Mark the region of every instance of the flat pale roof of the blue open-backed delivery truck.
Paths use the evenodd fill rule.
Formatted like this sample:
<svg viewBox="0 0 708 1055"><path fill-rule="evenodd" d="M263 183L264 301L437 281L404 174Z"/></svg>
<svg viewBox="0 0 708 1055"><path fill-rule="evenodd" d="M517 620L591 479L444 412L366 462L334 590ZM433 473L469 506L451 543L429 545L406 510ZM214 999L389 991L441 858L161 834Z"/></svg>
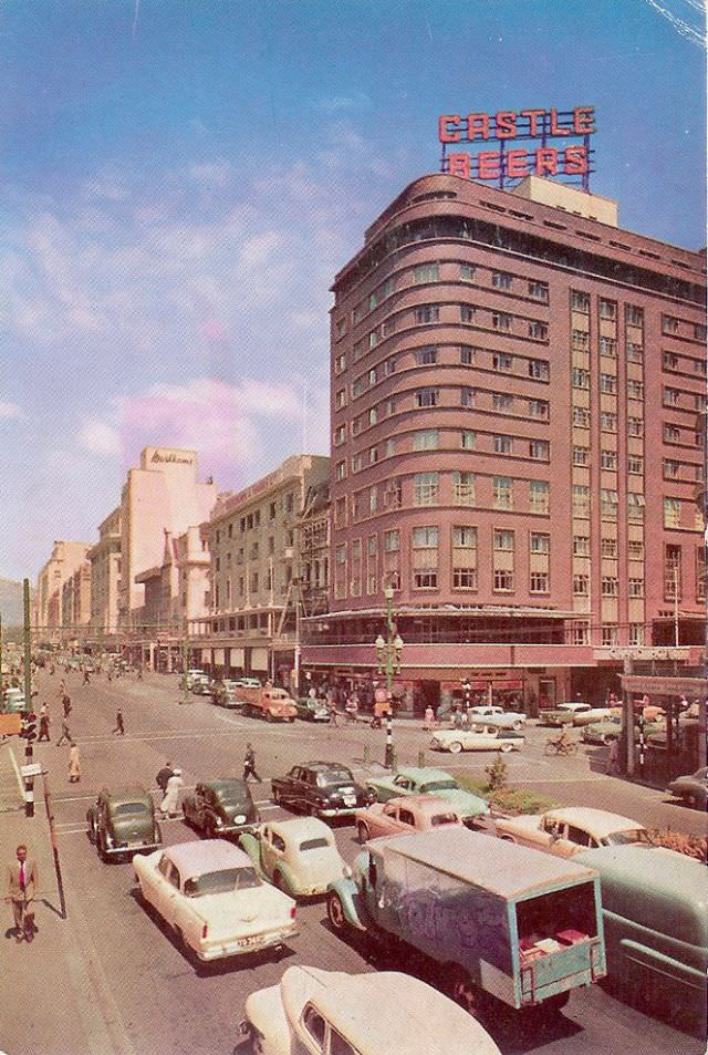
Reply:
<svg viewBox="0 0 708 1055"><path fill-rule="evenodd" d="M493 839L456 825L415 835L384 836L367 844L384 857L397 855L481 887L507 901L534 890L594 879L595 872L541 850Z"/></svg>

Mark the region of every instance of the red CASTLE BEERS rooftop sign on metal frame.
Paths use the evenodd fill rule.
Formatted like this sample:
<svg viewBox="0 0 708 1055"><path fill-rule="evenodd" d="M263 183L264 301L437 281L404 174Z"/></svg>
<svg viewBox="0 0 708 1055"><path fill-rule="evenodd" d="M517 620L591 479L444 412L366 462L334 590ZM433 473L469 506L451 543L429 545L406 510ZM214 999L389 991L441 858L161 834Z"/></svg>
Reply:
<svg viewBox="0 0 708 1055"><path fill-rule="evenodd" d="M509 180L524 176L565 177L590 190L594 132L593 106L442 114L438 118L440 170L465 179L493 180L502 190ZM532 149L517 145L524 141L539 145ZM477 147L475 153L459 149L467 143Z"/></svg>

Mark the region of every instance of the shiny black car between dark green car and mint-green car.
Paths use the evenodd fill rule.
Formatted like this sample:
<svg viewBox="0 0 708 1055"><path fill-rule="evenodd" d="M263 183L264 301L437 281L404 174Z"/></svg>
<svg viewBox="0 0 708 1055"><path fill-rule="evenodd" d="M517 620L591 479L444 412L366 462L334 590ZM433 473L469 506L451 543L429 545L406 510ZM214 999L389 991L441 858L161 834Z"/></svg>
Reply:
<svg viewBox="0 0 708 1055"><path fill-rule="evenodd" d="M271 780L273 801L313 817L351 817L374 796L339 762L309 762Z"/></svg>

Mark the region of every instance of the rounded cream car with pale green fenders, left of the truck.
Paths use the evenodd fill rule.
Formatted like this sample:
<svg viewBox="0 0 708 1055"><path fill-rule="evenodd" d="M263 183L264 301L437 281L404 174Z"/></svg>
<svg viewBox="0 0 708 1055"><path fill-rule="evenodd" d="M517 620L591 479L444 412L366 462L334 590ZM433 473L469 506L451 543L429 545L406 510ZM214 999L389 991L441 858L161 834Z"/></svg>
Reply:
<svg viewBox="0 0 708 1055"><path fill-rule="evenodd" d="M317 817L270 821L241 836L239 846L259 875L291 898L324 894L331 882L350 872L332 829Z"/></svg>

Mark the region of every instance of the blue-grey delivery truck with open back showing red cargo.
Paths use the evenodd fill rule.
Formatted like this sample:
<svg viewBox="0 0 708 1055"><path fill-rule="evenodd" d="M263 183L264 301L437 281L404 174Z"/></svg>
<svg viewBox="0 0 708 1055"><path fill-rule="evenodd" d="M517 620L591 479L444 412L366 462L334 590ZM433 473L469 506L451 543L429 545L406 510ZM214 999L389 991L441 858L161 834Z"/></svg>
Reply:
<svg viewBox="0 0 708 1055"><path fill-rule="evenodd" d="M470 1011L556 1010L605 974L597 873L466 828L367 842L327 914L402 958L424 953Z"/></svg>

